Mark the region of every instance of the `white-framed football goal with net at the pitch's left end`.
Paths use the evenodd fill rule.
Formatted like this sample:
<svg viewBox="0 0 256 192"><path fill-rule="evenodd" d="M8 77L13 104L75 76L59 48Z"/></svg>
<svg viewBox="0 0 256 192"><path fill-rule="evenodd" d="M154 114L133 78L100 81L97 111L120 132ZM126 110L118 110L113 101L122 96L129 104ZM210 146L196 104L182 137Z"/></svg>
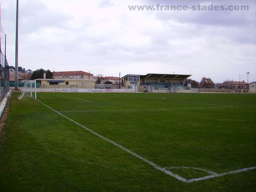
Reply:
<svg viewBox="0 0 256 192"><path fill-rule="evenodd" d="M36 99L36 80L31 80L24 83L24 86L21 88L20 96L18 99L31 98Z"/></svg>

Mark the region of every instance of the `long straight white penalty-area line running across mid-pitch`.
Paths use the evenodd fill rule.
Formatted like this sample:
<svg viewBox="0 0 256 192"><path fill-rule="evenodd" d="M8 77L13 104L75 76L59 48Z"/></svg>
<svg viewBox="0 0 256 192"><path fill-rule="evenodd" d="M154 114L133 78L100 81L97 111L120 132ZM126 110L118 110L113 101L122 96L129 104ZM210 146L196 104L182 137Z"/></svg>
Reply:
<svg viewBox="0 0 256 192"><path fill-rule="evenodd" d="M157 111L157 110L173 110L173 109L207 109L207 108L232 108L227 107L198 107L198 108L160 108L160 109L114 109L114 110L82 110L82 111L60 111L61 113L74 113L74 112L99 112L99 111Z"/></svg>

